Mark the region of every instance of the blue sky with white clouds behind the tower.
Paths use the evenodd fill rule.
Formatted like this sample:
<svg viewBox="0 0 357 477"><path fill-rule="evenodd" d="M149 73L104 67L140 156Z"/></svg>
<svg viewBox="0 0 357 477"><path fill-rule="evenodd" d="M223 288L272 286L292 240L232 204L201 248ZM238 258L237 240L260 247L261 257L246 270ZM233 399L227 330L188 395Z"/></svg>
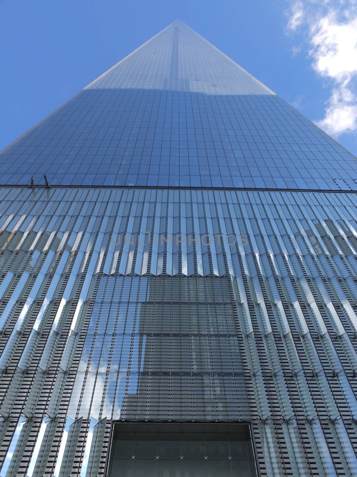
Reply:
<svg viewBox="0 0 357 477"><path fill-rule="evenodd" d="M357 0L0 0L0 149L181 19L357 155Z"/></svg>

